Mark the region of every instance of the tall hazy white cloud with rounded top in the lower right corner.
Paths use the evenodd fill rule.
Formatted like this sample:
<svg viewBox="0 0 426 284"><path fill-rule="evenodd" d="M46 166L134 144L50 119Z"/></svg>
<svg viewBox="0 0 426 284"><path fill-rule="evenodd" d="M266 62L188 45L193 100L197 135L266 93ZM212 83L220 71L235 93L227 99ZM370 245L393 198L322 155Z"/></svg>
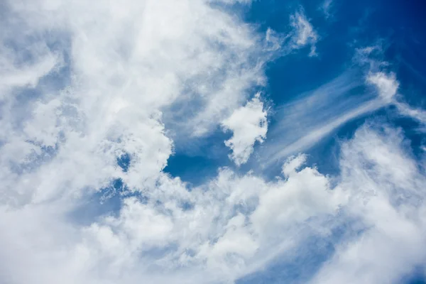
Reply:
<svg viewBox="0 0 426 284"><path fill-rule="evenodd" d="M395 283L425 261L423 175L400 131L357 131L342 150L349 214L361 227L337 246L312 283ZM361 232L361 234L359 234Z"/></svg>

